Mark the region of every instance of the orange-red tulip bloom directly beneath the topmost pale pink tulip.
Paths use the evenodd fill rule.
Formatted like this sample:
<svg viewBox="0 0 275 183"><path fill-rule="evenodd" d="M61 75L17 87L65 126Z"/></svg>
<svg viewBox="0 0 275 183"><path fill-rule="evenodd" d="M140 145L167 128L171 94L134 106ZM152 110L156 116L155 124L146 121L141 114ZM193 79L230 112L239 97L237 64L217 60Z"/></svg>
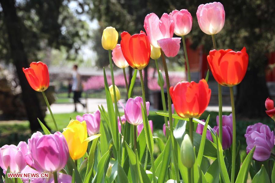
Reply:
<svg viewBox="0 0 275 183"><path fill-rule="evenodd" d="M244 47L240 52L211 50L207 60L215 80L223 86L234 86L243 79L248 66L248 54Z"/></svg>

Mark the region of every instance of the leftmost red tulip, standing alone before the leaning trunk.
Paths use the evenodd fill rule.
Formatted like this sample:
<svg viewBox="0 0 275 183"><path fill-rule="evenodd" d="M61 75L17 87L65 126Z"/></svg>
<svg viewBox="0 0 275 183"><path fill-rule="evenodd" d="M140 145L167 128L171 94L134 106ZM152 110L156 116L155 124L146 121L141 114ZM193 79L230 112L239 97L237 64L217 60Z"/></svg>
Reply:
<svg viewBox="0 0 275 183"><path fill-rule="evenodd" d="M49 70L45 63L32 62L29 68L22 68L26 78L35 91L45 91L50 84Z"/></svg>

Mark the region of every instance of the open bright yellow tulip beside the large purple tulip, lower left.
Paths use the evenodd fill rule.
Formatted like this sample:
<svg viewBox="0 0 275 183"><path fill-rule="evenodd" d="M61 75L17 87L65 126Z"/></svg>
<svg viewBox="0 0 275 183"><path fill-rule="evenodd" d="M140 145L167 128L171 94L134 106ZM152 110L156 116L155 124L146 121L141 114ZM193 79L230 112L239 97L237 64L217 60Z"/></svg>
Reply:
<svg viewBox="0 0 275 183"><path fill-rule="evenodd" d="M77 160L84 156L88 148L86 121L71 120L62 133L68 143L70 156Z"/></svg>

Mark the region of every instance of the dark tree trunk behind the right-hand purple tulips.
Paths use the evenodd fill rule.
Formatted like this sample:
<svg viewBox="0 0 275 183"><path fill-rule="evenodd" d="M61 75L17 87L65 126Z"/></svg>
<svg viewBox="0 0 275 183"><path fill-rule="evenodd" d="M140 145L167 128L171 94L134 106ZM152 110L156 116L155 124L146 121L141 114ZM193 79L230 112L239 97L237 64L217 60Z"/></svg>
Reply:
<svg viewBox="0 0 275 183"><path fill-rule="evenodd" d="M243 81L237 85L237 116L249 119L266 117L265 101L268 96L264 69L249 68Z"/></svg>

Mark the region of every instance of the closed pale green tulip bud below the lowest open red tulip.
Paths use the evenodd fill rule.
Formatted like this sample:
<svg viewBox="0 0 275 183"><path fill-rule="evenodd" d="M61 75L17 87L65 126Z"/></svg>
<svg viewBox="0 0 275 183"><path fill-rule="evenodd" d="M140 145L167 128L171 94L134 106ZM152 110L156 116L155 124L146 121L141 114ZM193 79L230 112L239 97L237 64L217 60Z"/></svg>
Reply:
<svg viewBox="0 0 275 183"><path fill-rule="evenodd" d="M193 144L188 134L185 134L181 145L181 160L182 164L187 167L193 167L195 163L195 154Z"/></svg>

